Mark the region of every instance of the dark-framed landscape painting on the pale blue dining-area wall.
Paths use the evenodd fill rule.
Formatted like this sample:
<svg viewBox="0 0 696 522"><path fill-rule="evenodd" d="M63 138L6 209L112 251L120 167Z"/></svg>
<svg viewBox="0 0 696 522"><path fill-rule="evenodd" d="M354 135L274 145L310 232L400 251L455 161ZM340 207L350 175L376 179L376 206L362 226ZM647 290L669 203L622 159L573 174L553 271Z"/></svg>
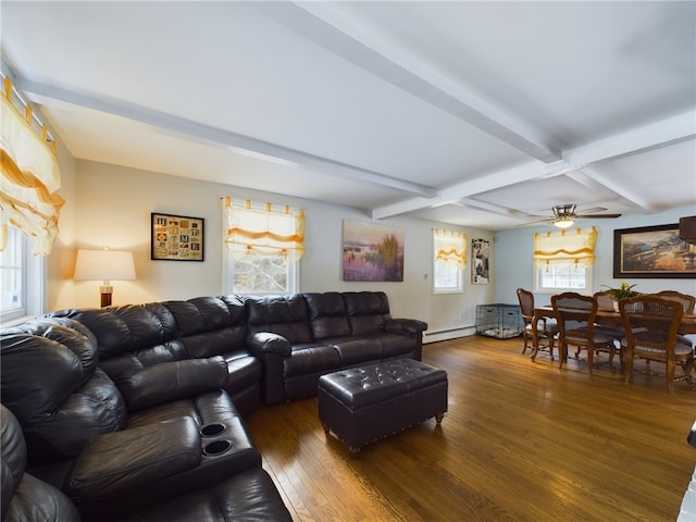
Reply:
<svg viewBox="0 0 696 522"><path fill-rule="evenodd" d="M679 225L613 231L613 276L696 278L696 247L679 237Z"/></svg>

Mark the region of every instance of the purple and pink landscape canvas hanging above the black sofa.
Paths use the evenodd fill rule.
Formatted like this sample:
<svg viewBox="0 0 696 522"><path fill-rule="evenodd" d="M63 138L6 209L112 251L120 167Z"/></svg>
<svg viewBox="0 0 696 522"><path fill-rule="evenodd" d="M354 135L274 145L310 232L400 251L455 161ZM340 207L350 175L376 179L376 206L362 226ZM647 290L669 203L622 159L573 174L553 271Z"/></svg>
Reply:
<svg viewBox="0 0 696 522"><path fill-rule="evenodd" d="M403 229L344 220L344 281L403 281Z"/></svg>

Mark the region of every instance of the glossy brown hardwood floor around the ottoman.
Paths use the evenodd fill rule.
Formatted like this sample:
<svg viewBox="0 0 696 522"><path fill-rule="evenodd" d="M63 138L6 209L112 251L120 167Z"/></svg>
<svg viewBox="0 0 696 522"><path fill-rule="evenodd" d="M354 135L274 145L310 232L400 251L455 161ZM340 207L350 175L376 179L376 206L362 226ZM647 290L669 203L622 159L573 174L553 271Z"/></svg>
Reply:
<svg viewBox="0 0 696 522"><path fill-rule="evenodd" d="M696 390L583 361L536 362L520 338L424 346L448 372L449 411L357 459L316 398L246 422L296 521L674 521L696 465ZM582 357L582 356L581 356ZM618 366L618 363L616 363Z"/></svg>

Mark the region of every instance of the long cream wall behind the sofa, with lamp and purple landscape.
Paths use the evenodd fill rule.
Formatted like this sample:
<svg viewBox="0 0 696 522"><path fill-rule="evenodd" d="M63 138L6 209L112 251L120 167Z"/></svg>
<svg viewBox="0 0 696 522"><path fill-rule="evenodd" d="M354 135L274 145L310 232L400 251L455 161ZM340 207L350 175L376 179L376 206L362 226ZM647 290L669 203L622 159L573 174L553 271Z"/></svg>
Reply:
<svg viewBox="0 0 696 522"><path fill-rule="evenodd" d="M77 161L75 174L63 173L63 197L69 214L61 216L58 256L49 258L49 310L97 307L99 282L74 282L72 272L78 248L132 250L136 281L114 282L113 303L136 303L166 299L187 299L222 294L222 211L221 198L252 199L302 207L307 217L306 253L301 261L301 291L384 290L391 315L425 321L430 331L472 326L475 306L492 302L495 285L471 285L469 269L464 293L432 293L432 229L442 224L400 216L380 222L405 229L405 274L402 283L341 281L343 220L370 222L366 211L337 207L299 198L241 189L233 186L192 182L169 175L121 166ZM71 188L72 187L72 188ZM163 212L206 220L203 262L150 260L150 213ZM492 241L493 233L452 227L473 238ZM471 247L469 247L471 256ZM495 279L495 274L493 277Z"/></svg>

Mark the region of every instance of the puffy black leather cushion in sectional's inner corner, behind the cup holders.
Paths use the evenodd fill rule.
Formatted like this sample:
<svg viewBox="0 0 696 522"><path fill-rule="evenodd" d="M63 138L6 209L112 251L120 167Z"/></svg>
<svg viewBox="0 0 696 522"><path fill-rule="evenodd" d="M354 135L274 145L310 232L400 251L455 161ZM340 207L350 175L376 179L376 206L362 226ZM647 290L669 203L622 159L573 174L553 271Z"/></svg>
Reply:
<svg viewBox="0 0 696 522"><path fill-rule="evenodd" d="M128 409L149 408L221 388L227 381L227 363L221 356L165 362L116 382Z"/></svg>

